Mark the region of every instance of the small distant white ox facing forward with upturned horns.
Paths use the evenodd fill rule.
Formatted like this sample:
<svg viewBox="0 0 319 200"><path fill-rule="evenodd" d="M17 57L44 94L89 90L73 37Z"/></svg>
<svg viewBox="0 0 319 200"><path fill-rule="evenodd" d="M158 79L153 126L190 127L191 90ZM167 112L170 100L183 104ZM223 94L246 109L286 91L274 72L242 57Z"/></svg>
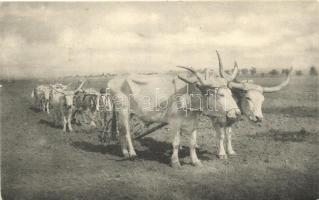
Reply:
<svg viewBox="0 0 319 200"><path fill-rule="evenodd" d="M58 90L51 86L51 99L54 113L53 113L53 122L55 126L60 126L62 121L63 132L66 132L67 127L69 131L73 131L71 125L71 117L73 114L73 102L74 95L78 92L83 86L84 81L80 84L80 86L76 90Z"/></svg>

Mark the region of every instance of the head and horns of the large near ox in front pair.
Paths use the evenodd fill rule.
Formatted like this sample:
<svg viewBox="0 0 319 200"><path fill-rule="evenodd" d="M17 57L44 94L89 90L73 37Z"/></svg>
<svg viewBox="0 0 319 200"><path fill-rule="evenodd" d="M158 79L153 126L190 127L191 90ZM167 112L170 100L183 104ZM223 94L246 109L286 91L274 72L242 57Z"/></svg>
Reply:
<svg viewBox="0 0 319 200"><path fill-rule="evenodd" d="M190 67L181 67L190 72L197 78L197 81L192 82L178 76L182 81L195 85L204 97L204 114L216 117L217 113L225 113L228 122L234 122L240 115L240 110L232 97L230 89L227 87L227 80L219 76L209 76L208 70L205 70L205 79L202 79L197 71ZM212 109L213 108L213 109Z"/></svg>

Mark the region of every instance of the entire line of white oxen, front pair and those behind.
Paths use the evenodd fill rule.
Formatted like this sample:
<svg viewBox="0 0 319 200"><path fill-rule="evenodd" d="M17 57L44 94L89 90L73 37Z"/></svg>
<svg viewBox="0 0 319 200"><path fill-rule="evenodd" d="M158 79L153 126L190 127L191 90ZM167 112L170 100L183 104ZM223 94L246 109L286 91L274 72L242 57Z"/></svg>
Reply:
<svg viewBox="0 0 319 200"><path fill-rule="evenodd" d="M178 151L180 135L183 133L189 138L191 162L198 166L201 162L196 154L196 137L200 115L209 117L216 130L219 158L226 159L227 155L235 155L231 126L242 116L259 124L263 120L264 93L276 92L288 85L292 71L291 69L281 84L263 87L250 80L238 81L239 69L236 62L232 74L225 73L220 55L217 51L216 53L218 74L208 69L205 73L199 73L191 67L178 66L188 71L188 76L186 73L177 76L134 74L114 77L108 81L107 89L100 92L82 89L82 82L76 90L69 91L62 84L46 86L48 93L42 92L41 88L44 86L38 86L33 94L43 111L49 113L49 104L55 107L55 113L58 113L63 122L63 131L67 130L67 126L72 131L74 110L90 109L95 112L101 106L111 110L114 113L113 120L117 121L115 130L118 130L124 157L136 156L130 132L132 115L148 123L166 123L172 137L171 165L181 166ZM88 102L84 96L89 97ZM74 102L78 109L73 109Z"/></svg>

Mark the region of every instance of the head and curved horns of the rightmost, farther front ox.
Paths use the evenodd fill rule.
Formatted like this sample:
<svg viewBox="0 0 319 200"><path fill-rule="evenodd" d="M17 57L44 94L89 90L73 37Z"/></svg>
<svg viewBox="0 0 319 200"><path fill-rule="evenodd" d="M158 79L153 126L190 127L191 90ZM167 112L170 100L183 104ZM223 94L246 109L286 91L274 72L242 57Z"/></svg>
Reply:
<svg viewBox="0 0 319 200"><path fill-rule="evenodd" d="M238 68L236 62L235 67ZM254 84L251 80L239 82L236 80L238 70L234 70L235 73L230 76L224 72L221 62L219 63L219 72L222 77L227 77L227 79L229 79L228 87L231 88L233 95L237 98L242 113L244 113L251 121L258 123L263 120L262 104L265 99L264 93L276 92L287 86L290 81L292 68L290 69L286 80L273 87L263 87Z"/></svg>

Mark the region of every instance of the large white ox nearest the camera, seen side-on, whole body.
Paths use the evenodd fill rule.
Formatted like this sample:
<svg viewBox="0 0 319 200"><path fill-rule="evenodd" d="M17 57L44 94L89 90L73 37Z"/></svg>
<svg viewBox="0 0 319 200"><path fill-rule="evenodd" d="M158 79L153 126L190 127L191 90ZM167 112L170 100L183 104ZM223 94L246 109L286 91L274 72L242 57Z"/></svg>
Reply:
<svg viewBox="0 0 319 200"><path fill-rule="evenodd" d="M135 157L129 119L131 114L148 122L165 122L173 136L171 165L179 167L180 133L190 134L190 157L193 165L200 165L195 151L196 130L200 113L219 119L220 123L235 121L240 111L224 78L204 80L196 71L195 81L183 77L136 75L118 77L108 86L118 112L121 150L125 157Z"/></svg>

